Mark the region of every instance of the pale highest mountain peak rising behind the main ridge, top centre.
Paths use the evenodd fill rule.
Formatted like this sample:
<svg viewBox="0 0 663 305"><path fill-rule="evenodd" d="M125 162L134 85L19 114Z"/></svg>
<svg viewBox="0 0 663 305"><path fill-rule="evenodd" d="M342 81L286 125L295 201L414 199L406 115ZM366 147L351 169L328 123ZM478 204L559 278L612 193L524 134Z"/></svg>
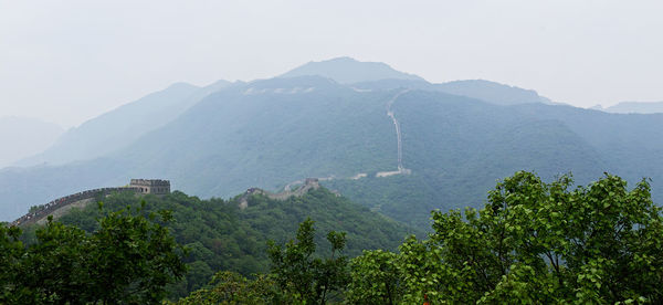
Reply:
<svg viewBox="0 0 663 305"><path fill-rule="evenodd" d="M381 62L360 62L352 57L343 56L320 62L308 62L295 67L280 77L296 77L319 75L341 84L370 82L379 80L418 80L423 78L397 71Z"/></svg>

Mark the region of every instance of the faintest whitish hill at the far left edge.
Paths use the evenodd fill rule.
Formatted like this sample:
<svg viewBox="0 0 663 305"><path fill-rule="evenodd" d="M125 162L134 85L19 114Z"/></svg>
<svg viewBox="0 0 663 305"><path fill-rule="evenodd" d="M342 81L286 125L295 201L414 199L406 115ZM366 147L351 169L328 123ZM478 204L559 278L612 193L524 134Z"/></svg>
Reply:
<svg viewBox="0 0 663 305"><path fill-rule="evenodd" d="M0 117L0 168L51 146L64 130L59 125L24 117Z"/></svg>

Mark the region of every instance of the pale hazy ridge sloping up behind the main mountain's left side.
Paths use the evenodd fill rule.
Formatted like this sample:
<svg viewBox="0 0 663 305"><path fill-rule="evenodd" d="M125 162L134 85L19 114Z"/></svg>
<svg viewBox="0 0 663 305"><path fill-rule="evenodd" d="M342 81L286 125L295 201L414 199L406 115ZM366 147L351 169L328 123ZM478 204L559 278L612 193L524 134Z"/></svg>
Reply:
<svg viewBox="0 0 663 305"><path fill-rule="evenodd" d="M59 165L106 156L164 126L202 97L229 84L225 81L206 87L173 84L67 130L52 147L19 165Z"/></svg>

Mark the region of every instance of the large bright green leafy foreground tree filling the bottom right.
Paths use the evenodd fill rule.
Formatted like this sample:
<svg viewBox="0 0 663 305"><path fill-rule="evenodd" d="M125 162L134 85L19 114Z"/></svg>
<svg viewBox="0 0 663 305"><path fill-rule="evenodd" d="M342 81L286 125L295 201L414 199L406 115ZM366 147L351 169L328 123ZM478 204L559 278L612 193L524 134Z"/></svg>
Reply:
<svg viewBox="0 0 663 305"><path fill-rule="evenodd" d="M571 186L522 171L464 219L433 212L430 239L400 248L406 302L663 302L663 219L648 181Z"/></svg>

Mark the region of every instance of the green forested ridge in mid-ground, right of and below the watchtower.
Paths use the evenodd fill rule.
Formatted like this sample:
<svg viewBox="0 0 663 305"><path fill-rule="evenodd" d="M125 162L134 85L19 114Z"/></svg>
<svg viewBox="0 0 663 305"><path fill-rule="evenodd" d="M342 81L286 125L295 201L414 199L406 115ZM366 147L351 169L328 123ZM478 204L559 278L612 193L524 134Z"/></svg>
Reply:
<svg viewBox="0 0 663 305"><path fill-rule="evenodd" d="M322 244L330 230L347 232L347 249L344 254L356 256L362 250L396 250L404 238L418 231L381 214L369 211L346 198L338 197L324 188L309 190L301 197L284 201L262 194L249 196L248 207L239 208L242 196L231 200L200 200L182 192L165 197L146 196L144 213L160 210L172 211L173 221L168 225L177 242L191 249L186 263L190 270L177 286L169 291L186 295L207 284L217 271L229 270L246 276L269 270L267 240L283 243L296 231L299 222L311 218L318 229L316 241ZM104 200L102 213L140 207L140 197L117 193ZM98 227L96 204L83 210L74 209L60 219L86 231ZM28 230L31 231L31 230ZM320 253L329 249L320 249Z"/></svg>

